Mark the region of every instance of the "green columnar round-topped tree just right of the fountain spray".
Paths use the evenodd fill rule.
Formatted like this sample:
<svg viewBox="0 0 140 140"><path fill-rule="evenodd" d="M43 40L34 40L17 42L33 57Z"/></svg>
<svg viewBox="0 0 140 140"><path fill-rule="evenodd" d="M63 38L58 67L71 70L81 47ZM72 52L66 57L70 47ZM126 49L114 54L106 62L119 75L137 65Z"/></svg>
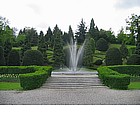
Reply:
<svg viewBox="0 0 140 140"><path fill-rule="evenodd" d="M95 53L95 41L93 38L89 38L84 50L84 61L83 61L84 66L88 67L92 66L94 53Z"/></svg>

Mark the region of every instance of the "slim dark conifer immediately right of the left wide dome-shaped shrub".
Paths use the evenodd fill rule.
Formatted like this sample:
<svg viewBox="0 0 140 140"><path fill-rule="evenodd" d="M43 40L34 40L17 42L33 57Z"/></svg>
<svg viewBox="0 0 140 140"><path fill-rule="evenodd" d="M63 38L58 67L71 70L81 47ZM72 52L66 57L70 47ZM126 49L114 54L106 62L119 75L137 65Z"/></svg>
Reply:
<svg viewBox="0 0 140 140"><path fill-rule="evenodd" d="M43 54L45 64L48 63L47 52L46 52L47 48L48 46L47 46L47 43L45 42L44 33L41 31L39 34L38 50Z"/></svg>

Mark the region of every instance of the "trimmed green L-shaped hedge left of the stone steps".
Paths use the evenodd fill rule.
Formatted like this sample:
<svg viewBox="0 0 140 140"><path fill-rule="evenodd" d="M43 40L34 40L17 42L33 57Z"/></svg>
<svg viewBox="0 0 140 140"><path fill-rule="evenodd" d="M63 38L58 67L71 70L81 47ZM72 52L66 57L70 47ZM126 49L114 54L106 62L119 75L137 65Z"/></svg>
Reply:
<svg viewBox="0 0 140 140"><path fill-rule="evenodd" d="M51 75L51 66L1 66L0 74L19 74L24 90L39 88Z"/></svg>

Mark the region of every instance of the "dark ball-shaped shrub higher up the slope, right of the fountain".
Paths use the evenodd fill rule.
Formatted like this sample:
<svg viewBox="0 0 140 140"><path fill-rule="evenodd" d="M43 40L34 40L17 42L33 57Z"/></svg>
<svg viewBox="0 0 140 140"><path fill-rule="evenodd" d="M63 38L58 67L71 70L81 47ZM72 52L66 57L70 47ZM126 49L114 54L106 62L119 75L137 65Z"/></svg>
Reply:
<svg viewBox="0 0 140 140"><path fill-rule="evenodd" d="M96 49L99 51L107 51L109 48L108 42L104 38L100 38L96 43Z"/></svg>

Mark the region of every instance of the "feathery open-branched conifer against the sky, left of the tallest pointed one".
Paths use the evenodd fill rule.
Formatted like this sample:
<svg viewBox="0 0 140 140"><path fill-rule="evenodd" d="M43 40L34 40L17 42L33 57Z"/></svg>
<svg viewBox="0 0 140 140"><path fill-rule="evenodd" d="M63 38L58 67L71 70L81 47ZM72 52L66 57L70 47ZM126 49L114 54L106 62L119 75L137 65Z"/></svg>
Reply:
<svg viewBox="0 0 140 140"><path fill-rule="evenodd" d="M85 41L86 31L87 31L87 27L86 27L85 24L86 23L82 19L80 25L78 25L78 30L75 33L76 34L75 37L76 37L76 40L77 40L78 44L82 44Z"/></svg>

